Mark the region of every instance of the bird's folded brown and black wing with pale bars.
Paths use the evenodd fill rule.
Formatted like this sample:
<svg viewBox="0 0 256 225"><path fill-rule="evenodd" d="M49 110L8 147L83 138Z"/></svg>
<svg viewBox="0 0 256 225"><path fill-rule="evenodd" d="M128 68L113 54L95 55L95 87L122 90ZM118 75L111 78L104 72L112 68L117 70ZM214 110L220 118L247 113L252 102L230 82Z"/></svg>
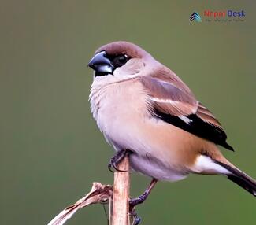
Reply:
<svg viewBox="0 0 256 225"><path fill-rule="evenodd" d="M174 73L169 77L166 73L142 76L140 80L147 92L152 115L233 150L226 142L227 135L218 120Z"/></svg>

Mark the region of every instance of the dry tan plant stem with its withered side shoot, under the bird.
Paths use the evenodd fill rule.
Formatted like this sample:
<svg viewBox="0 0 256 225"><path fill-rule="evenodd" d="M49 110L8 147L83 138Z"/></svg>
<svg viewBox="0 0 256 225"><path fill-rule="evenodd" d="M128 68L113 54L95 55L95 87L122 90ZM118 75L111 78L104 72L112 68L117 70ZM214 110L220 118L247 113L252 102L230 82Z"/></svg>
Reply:
<svg viewBox="0 0 256 225"><path fill-rule="evenodd" d="M117 169L125 172L114 173L114 186L102 185L101 183L93 183L91 191L86 194L75 204L70 205L54 217L47 225L63 225L70 219L78 209L84 208L87 205L100 203L104 204L109 201L109 225L128 225L129 224L129 158L124 157L124 160L117 165ZM113 208L111 207L113 200ZM112 212L111 212L112 208Z"/></svg>

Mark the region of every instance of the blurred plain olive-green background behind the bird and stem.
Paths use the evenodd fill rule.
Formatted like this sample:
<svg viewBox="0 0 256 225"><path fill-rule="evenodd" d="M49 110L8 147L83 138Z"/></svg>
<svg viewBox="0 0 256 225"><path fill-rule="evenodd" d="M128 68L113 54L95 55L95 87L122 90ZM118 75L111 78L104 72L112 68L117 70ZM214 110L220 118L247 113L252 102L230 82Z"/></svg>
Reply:
<svg viewBox="0 0 256 225"><path fill-rule="evenodd" d="M211 109L256 178L256 4L253 1L1 1L0 223L46 224L91 189L113 183L113 149L92 119L87 68L98 46L135 42L172 68ZM189 20L242 10L243 22ZM132 196L150 179L132 175ZM256 202L222 177L158 183L137 207L142 224L253 224ZM106 224L101 205L68 224Z"/></svg>

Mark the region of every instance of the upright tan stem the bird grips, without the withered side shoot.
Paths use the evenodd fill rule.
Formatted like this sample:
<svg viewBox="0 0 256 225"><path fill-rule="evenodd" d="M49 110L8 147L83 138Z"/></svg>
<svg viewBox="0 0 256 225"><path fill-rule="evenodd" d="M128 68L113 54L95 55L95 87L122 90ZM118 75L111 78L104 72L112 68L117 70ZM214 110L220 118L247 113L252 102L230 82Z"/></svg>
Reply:
<svg viewBox="0 0 256 225"><path fill-rule="evenodd" d="M115 172L113 183L113 214L112 225L129 224L130 174L129 157L118 164L117 168L125 172Z"/></svg>

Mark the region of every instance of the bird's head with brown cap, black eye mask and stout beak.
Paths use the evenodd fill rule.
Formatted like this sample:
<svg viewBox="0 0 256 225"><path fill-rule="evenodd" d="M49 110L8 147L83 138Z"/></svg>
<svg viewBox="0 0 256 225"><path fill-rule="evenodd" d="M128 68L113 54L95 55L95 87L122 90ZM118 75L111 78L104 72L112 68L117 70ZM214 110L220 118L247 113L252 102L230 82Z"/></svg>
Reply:
<svg viewBox="0 0 256 225"><path fill-rule="evenodd" d="M147 61L154 59L139 46L131 42L111 42L96 50L88 66L95 70L95 77L129 79L139 76L150 65Z"/></svg>

